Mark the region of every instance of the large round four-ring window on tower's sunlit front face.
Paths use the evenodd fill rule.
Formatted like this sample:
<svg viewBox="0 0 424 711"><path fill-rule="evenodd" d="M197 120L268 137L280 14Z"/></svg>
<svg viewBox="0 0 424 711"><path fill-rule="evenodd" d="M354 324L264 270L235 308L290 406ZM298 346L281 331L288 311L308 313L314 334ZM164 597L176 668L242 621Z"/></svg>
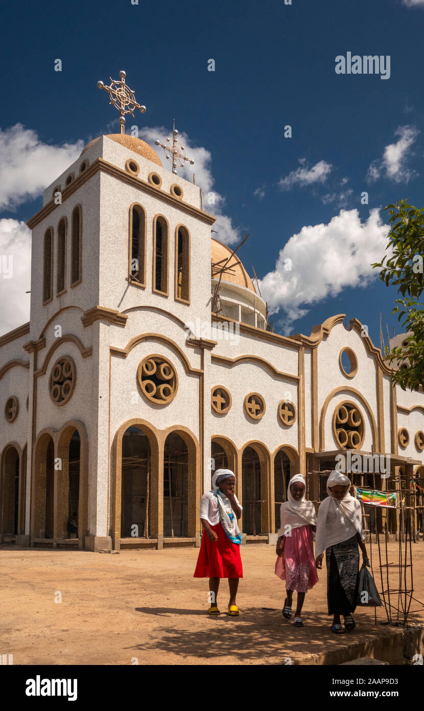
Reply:
<svg viewBox="0 0 424 711"><path fill-rule="evenodd" d="M157 405L168 405L178 390L174 366L163 355L148 355L138 365L138 385L148 400Z"/></svg>

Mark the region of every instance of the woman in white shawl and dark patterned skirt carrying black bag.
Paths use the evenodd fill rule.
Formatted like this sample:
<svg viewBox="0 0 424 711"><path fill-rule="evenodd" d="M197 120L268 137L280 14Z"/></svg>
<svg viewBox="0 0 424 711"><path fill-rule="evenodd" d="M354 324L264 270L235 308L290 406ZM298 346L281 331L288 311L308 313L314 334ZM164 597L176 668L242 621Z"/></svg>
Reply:
<svg viewBox="0 0 424 711"><path fill-rule="evenodd" d="M361 504L350 493L351 481L340 471L332 471L327 481L328 497L320 503L315 537L316 566L327 565L328 614L333 615L331 631L342 634L340 615L347 631L354 629L352 617L357 606L359 550L369 565L362 530Z"/></svg>

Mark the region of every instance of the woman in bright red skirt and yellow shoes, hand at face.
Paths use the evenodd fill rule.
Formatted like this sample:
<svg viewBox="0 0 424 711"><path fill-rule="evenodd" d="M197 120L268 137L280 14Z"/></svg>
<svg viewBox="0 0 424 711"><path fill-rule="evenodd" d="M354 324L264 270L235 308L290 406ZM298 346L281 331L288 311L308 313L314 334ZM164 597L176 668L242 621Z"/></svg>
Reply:
<svg viewBox="0 0 424 711"><path fill-rule="evenodd" d="M236 605L239 578L243 577L240 544L241 533L237 520L241 506L234 493L236 477L230 469L217 469L212 477L212 489L200 501L200 520L203 526L202 545L193 577L208 577L211 594L208 614L221 614L217 606L219 579L228 578L229 615L238 615Z"/></svg>

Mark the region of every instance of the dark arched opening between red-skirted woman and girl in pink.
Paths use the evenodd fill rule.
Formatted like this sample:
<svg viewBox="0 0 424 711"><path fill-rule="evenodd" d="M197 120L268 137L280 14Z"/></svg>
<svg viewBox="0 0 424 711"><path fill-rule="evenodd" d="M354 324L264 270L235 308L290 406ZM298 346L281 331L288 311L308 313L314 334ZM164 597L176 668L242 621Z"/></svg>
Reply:
<svg viewBox="0 0 424 711"><path fill-rule="evenodd" d="M241 457L243 481L243 531L246 535L262 533L261 461L253 447L246 447Z"/></svg>

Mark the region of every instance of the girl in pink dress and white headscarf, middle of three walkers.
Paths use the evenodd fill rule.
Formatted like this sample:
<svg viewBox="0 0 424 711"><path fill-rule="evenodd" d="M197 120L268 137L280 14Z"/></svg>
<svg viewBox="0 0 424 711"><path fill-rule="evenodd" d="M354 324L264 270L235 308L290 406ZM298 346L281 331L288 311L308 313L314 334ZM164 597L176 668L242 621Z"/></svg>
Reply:
<svg viewBox="0 0 424 711"><path fill-rule="evenodd" d="M317 517L312 501L306 501L306 482L301 474L290 479L288 501L281 504L281 526L278 531L276 575L286 580L287 597L283 617L292 615L293 592L298 593L294 624L303 627L300 616L305 594L318 582L315 567L312 530L316 530Z"/></svg>

